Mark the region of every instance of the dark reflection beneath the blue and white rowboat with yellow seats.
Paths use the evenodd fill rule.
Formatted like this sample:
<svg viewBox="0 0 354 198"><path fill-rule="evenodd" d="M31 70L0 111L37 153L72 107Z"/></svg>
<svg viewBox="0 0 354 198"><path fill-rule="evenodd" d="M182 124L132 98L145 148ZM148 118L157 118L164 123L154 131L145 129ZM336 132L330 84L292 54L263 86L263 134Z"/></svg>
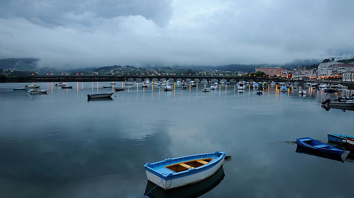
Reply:
<svg viewBox="0 0 354 198"><path fill-rule="evenodd" d="M163 190L157 187L152 190L156 185L148 181L144 195L152 190L146 195L149 198L197 198L214 189L220 184L224 177L224 168L221 166L219 170L204 181L177 189Z"/></svg>

